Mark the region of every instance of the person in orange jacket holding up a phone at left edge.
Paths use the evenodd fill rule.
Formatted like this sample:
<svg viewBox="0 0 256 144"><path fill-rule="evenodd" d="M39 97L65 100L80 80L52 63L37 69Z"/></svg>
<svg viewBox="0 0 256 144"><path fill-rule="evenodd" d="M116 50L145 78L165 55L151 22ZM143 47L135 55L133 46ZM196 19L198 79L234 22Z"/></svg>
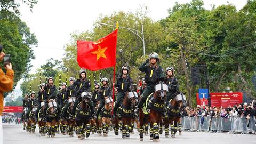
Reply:
<svg viewBox="0 0 256 144"><path fill-rule="evenodd" d="M0 61L5 57L5 53L2 52L2 45L0 45ZM2 127L2 113L4 109L4 92L9 92L13 89L14 83L14 71L12 70L12 63L4 62L4 68L6 74L0 68L0 143L3 143L3 127Z"/></svg>

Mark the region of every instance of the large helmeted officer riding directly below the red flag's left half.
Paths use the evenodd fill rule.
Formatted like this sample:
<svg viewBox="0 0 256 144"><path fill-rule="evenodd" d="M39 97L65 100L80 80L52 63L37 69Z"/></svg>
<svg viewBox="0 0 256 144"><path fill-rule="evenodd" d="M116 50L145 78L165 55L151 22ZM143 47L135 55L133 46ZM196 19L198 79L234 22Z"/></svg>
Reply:
<svg viewBox="0 0 256 144"><path fill-rule="evenodd" d="M78 103L82 101L82 98L81 98L82 92L84 92L84 91L90 92L91 83L90 83L90 81L88 79L86 79L86 76L87 76L86 69L85 68L81 68L80 71L79 71L79 77L80 78L77 79L73 83L73 86L74 87L76 86L76 88L77 88L76 89L77 98L76 98L76 101L74 103L74 107L72 109L71 115L69 116L69 119L73 119L73 117L75 115L75 112L76 112L76 107L77 107ZM88 102L88 105L91 108L92 117L95 118L94 107L92 105L92 101Z"/></svg>

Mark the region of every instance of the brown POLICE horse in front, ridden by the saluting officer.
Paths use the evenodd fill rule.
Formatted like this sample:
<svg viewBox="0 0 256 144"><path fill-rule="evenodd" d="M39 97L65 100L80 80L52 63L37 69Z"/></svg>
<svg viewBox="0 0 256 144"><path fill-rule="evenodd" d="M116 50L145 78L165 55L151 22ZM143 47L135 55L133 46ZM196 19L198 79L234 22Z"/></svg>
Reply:
<svg viewBox="0 0 256 144"><path fill-rule="evenodd" d="M159 141L159 124L165 108L166 93L168 86L160 82L155 86L155 92L151 93L139 111L140 141L143 140L143 125L149 121L150 140Z"/></svg>

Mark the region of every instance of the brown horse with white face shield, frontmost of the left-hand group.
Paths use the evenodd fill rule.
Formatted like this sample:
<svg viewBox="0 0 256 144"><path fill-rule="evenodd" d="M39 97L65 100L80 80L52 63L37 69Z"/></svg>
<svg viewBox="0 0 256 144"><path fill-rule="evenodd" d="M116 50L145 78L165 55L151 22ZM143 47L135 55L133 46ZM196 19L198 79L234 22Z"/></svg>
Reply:
<svg viewBox="0 0 256 144"><path fill-rule="evenodd" d="M58 122L58 108L54 99L48 100L48 109L46 110L47 137L55 137L56 124Z"/></svg>

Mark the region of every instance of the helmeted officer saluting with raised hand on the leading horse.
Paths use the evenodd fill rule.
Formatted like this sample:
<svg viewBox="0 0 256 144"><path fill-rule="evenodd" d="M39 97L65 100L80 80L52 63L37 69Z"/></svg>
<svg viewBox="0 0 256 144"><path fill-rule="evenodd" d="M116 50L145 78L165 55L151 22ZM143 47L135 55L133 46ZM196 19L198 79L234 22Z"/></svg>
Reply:
<svg viewBox="0 0 256 144"><path fill-rule="evenodd" d="M159 62L158 54L153 52L150 53L149 59L139 66L139 70L146 73L146 88L141 95L141 99L137 106L138 108L142 108L142 105L148 98L149 94L154 92L156 84L158 84L159 81L164 80L163 68L157 65L157 62Z"/></svg>

